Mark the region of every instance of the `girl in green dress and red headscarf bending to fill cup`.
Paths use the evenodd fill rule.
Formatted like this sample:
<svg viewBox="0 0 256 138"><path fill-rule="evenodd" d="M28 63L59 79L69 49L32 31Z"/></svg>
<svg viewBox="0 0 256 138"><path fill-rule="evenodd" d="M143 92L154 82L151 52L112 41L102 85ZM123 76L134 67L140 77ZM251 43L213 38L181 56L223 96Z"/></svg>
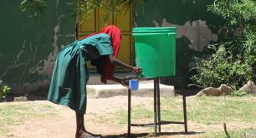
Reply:
<svg viewBox="0 0 256 138"><path fill-rule="evenodd" d="M84 114L86 110L86 83L89 73L85 62L91 61L101 75L101 81L120 82L127 86L125 79L113 76L115 65L125 67L136 73L140 67L131 67L116 59L120 47L120 29L108 26L102 32L83 37L62 49L57 56L48 100L56 104L69 106L76 114L76 138L90 137L85 130Z"/></svg>

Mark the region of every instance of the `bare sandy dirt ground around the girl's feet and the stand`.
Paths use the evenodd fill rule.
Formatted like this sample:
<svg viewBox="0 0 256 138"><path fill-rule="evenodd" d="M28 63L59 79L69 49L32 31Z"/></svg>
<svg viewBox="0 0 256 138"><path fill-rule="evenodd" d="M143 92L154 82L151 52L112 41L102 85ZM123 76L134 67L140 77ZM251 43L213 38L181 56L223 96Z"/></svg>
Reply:
<svg viewBox="0 0 256 138"><path fill-rule="evenodd" d="M151 104L151 97L132 97L132 106L143 104ZM75 133L75 116L74 111L68 107L55 105L49 101L28 101L38 102L40 104L54 107L54 113L57 116L29 117L18 126L12 126L12 133L5 137L15 138L73 138ZM21 102L16 102L21 103ZM100 134L102 137L125 137L127 133L126 124L120 125L115 121L113 112L127 109L127 96L115 96L104 99L88 99L87 113L85 115L85 127L94 134ZM104 116L102 120L100 116ZM152 119L153 121L153 119ZM246 124L228 124L230 128L238 126L246 126ZM199 123L188 121L188 134L183 135L184 127L182 125L162 126L161 138L165 137L198 137L205 131L222 130L223 125L206 126ZM134 137L153 137L153 128L131 127Z"/></svg>

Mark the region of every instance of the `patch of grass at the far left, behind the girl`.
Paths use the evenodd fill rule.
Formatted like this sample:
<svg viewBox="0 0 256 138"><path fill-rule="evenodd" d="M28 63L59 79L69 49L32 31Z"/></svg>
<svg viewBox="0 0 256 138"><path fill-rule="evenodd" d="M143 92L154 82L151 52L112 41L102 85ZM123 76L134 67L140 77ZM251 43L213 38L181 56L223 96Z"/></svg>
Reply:
<svg viewBox="0 0 256 138"><path fill-rule="evenodd" d="M15 126L31 118L55 116L54 107L36 102L0 103L0 134L8 134L8 127Z"/></svg>

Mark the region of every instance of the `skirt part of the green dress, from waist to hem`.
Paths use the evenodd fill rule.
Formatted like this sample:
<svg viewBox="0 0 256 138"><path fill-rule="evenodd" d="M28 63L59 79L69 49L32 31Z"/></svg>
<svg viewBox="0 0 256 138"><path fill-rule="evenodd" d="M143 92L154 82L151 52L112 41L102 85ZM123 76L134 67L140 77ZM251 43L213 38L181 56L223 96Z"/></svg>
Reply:
<svg viewBox="0 0 256 138"><path fill-rule="evenodd" d="M58 53L48 100L84 114L89 73L85 64L86 52L80 46L79 42L73 42Z"/></svg>

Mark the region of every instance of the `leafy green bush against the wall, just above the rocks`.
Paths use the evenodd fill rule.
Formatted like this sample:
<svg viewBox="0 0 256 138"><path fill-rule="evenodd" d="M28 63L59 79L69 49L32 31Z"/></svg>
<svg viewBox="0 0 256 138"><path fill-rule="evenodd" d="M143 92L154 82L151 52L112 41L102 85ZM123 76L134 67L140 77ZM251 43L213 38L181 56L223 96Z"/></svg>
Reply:
<svg viewBox="0 0 256 138"><path fill-rule="evenodd" d="M221 84L227 84L235 91L238 86L243 86L248 80L255 79L253 76L255 62L244 61L242 56L233 59L233 53L226 48L229 45L232 43L210 45L208 48L214 51L210 57L207 59L196 57L197 67L193 69L198 73L191 79L197 82L197 86L218 87Z"/></svg>

